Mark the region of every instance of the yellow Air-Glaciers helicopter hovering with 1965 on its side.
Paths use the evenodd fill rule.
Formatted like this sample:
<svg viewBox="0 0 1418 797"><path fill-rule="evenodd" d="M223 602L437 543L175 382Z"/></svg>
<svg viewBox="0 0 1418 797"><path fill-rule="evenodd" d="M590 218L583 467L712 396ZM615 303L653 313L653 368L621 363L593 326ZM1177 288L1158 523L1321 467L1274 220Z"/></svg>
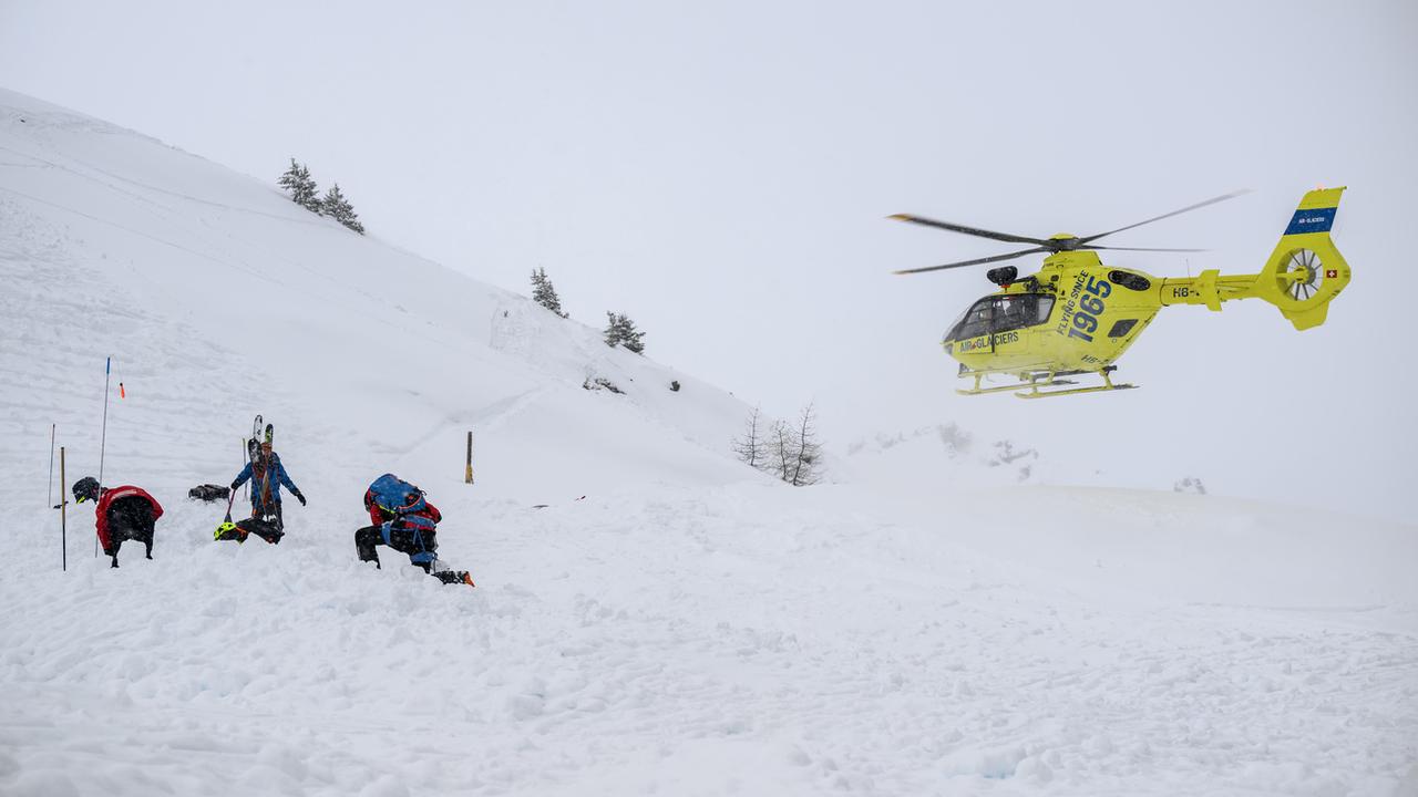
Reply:
<svg viewBox="0 0 1418 797"><path fill-rule="evenodd" d="M1202 271L1197 277L1157 278L1133 268L1105 265L1098 250L1117 251L1204 251L1100 247L1099 238L1170 218L1222 200L1241 196L1235 191L1212 197L1181 210L1119 227L1096 235L1059 234L1029 238L936 221L920 216L896 214L891 218L923 224L995 241L1034 244L1034 248L1003 255L908 268L895 274L920 274L998 262L1017 257L1049 252L1044 267L1020 277L1012 265L987 272L998 291L970 305L950 325L942 346L960 360L960 377L973 377L974 386L957 390L964 396L1015 391L1021 398L1071 396L1102 390L1124 390L1133 384L1115 384L1113 363L1132 346L1153 316L1168 305L1205 305L1221 311L1221 302L1259 298L1280 309L1296 329L1324 323L1329 302L1349 285L1350 269L1330 240L1330 227L1344 189L1317 189L1305 194L1280 235L1271 260L1259 274L1222 275ZM1076 384L1061 379L1096 373L1103 383L1092 387L1054 387ZM1007 374L1018 381L981 387L981 379ZM1021 390L1025 389L1025 390Z"/></svg>

